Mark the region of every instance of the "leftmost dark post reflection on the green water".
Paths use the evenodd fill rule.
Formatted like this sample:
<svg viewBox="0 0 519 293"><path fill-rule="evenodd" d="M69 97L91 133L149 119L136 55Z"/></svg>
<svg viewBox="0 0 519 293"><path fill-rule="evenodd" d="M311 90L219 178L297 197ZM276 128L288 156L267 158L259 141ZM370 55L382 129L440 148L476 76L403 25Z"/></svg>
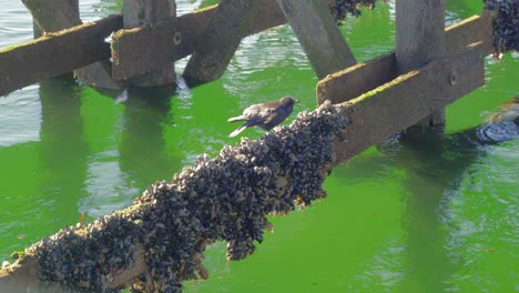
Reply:
<svg viewBox="0 0 519 293"><path fill-rule="evenodd" d="M77 220L78 201L86 195L89 145L83 137L79 87L71 75L40 82L42 192L55 223ZM67 220L65 220L67 219Z"/></svg>

